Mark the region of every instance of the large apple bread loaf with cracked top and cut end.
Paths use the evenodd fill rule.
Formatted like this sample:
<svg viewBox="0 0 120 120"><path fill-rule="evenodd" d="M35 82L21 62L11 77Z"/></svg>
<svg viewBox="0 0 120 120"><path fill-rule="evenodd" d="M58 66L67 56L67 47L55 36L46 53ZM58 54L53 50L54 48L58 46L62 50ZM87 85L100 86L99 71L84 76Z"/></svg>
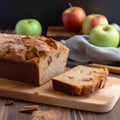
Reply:
<svg viewBox="0 0 120 120"><path fill-rule="evenodd" d="M68 55L51 38L0 34L0 77L42 85L65 70Z"/></svg>

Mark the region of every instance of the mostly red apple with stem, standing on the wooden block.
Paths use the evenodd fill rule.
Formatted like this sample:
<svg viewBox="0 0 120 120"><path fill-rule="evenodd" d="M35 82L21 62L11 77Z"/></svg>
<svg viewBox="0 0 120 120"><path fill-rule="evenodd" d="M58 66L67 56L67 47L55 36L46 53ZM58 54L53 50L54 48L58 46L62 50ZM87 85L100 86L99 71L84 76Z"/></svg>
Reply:
<svg viewBox="0 0 120 120"><path fill-rule="evenodd" d="M86 12L78 6L70 6L62 13L62 23L64 27L72 32L80 32L82 23L86 18Z"/></svg>

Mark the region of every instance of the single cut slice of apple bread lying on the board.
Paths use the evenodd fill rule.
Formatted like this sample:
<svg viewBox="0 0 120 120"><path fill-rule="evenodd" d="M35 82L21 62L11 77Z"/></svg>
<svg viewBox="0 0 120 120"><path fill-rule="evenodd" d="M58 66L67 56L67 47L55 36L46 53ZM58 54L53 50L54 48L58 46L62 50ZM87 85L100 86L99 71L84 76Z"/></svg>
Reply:
<svg viewBox="0 0 120 120"><path fill-rule="evenodd" d="M54 77L53 88L69 95L88 95L105 86L108 74L107 68L78 65Z"/></svg>

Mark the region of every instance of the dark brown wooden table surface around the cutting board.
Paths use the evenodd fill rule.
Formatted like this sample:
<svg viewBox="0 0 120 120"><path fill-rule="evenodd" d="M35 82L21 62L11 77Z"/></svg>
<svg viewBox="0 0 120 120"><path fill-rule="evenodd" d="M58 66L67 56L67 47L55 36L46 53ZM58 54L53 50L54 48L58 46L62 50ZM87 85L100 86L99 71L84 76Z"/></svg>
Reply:
<svg viewBox="0 0 120 120"><path fill-rule="evenodd" d="M9 30L1 30L0 32L13 33ZM110 74L110 76L120 78L120 75ZM14 104L6 105L6 103L9 101L14 102ZM52 120L120 120L120 99L110 112L95 113L90 111L82 111L76 109L50 106L45 104L37 104L3 97L0 97L0 120L33 120L32 113L20 112L20 109L26 105L38 105L39 110L42 112L49 112L50 110L56 112L57 117L55 116L55 118L54 114L50 114L50 116L53 116L54 118ZM39 120L51 119L43 118Z"/></svg>

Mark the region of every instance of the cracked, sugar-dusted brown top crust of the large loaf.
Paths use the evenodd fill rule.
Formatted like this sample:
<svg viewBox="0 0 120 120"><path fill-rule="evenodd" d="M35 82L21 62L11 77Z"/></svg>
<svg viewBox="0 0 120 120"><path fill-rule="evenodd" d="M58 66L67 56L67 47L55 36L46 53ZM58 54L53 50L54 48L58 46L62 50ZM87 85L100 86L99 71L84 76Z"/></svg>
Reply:
<svg viewBox="0 0 120 120"><path fill-rule="evenodd" d="M37 59L53 49L57 50L56 42L43 36L0 34L0 59L18 62Z"/></svg>

